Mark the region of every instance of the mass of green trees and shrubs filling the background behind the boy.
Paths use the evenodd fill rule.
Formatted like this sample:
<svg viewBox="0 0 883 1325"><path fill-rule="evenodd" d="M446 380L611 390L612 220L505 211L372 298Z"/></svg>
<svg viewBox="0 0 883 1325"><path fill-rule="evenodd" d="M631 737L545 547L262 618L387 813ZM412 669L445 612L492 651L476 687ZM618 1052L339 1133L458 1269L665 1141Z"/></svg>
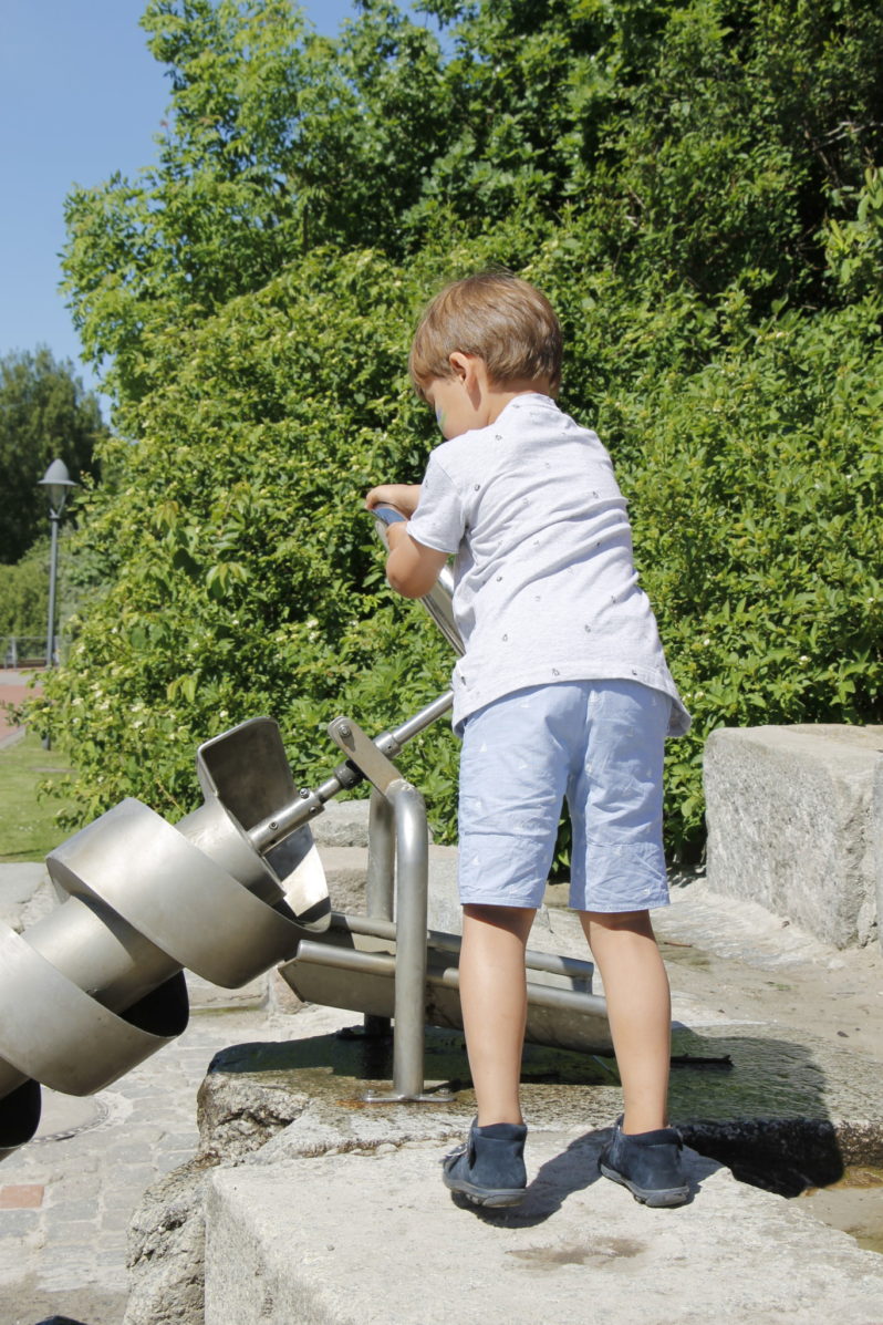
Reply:
<svg viewBox="0 0 883 1325"><path fill-rule="evenodd" d="M79 535L110 588L48 688L77 795L183 811L195 743L259 712L320 778L335 712L380 730L445 685L360 498L433 441L404 374L420 306L498 262L559 309L564 404L631 501L695 716L669 767L690 855L711 729L878 714L883 13L421 8L361 0L330 41L287 0L147 7L158 162L68 212L119 433ZM408 767L450 832L450 737Z"/></svg>

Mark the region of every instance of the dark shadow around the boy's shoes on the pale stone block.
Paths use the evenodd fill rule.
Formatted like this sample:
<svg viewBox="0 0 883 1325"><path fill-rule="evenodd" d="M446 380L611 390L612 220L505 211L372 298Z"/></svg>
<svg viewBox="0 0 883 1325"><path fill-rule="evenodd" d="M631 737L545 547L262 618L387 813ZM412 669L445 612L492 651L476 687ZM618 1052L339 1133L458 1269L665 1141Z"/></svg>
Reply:
<svg viewBox="0 0 883 1325"><path fill-rule="evenodd" d="M612 1128L604 1128L600 1132L586 1132L585 1136L572 1141L567 1150L547 1159L528 1186L527 1196L520 1206L492 1210L486 1206L474 1206L465 1196L457 1194L451 1194L455 1204L470 1210L485 1223L510 1228L535 1228L544 1224L547 1219L561 1210L568 1196L577 1191L585 1191L602 1178L598 1170L598 1158L612 1130ZM714 1159L695 1154L692 1150L684 1150L684 1167L690 1182L690 1196L684 1204L690 1204L702 1182L716 1173L720 1165ZM625 1187L622 1198L633 1200L631 1194Z"/></svg>

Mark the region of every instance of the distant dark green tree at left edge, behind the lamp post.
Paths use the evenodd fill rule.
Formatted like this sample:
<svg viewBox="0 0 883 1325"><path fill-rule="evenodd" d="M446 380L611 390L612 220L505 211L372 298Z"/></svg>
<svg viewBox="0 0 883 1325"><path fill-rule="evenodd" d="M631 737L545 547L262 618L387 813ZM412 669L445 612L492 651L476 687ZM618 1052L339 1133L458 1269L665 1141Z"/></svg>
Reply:
<svg viewBox="0 0 883 1325"><path fill-rule="evenodd" d="M60 457L81 481L97 473L94 450L106 433L94 394L83 391L70 360L44 346L0 358L0 563L17 562L46 527L37 486Z"/></svg>

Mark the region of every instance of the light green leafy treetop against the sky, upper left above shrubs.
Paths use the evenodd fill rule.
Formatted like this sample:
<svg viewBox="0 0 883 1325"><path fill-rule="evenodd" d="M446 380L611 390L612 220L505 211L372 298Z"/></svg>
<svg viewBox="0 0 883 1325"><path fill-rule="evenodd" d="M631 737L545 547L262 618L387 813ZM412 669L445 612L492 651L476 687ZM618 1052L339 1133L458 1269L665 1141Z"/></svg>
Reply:
<svg viewBox="0 0 883 1325"><path fill-rule="evenodd" d="M142 25L172 98L158 162L66 204L64 268L85 352L122 399L151 335L195 326L328 241L400 227L445 132L438 41L364 4L339 41L291 0L151 0Z"/></svg>

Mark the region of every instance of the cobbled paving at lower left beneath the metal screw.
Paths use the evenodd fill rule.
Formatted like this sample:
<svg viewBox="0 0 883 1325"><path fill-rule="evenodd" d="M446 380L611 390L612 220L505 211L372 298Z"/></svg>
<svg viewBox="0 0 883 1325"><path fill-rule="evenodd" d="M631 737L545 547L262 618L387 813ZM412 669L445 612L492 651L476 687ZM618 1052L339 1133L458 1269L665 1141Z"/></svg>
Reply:
<svg viewBox="0 0 883 1325"><path fill-rule="evenodd" d="M85 1100L44 1090L40 1133L0 1166L0 1325L54 1314L119 1325L132 1211L193 1154L212 1056L285 1039L283 1026L258 1007L196 1010L179 1040L110 1089Z"/></svg>

